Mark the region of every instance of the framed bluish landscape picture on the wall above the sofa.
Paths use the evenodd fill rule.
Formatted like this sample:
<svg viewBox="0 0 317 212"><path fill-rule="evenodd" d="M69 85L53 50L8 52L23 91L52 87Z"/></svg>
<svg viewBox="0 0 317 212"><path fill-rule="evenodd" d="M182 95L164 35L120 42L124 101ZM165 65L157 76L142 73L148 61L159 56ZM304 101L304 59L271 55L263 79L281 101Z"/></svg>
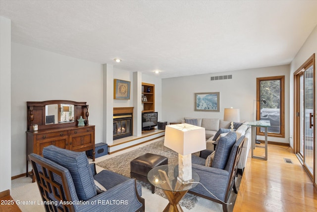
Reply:
<svg viewBox="0 0 317 212"><path fill-rule="evenodd" d="M195 111L219 112L219 92L195 93Z"/></svg>

